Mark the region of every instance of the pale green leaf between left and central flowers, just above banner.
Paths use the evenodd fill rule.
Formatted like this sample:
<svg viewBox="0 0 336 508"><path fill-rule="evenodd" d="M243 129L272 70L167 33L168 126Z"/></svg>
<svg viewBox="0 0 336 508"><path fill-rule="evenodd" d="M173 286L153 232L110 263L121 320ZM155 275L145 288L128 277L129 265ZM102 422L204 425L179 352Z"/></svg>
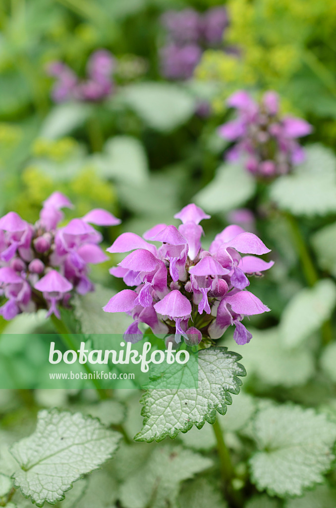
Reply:
<svg viewBox="0 0 336 508"><path fill-rule="evenodd" d="M82 333L124 333L132 320L122 312L104 312L102 309L115 292L95 284L95 291L84 296L76 295L72 303Z"/></svg>

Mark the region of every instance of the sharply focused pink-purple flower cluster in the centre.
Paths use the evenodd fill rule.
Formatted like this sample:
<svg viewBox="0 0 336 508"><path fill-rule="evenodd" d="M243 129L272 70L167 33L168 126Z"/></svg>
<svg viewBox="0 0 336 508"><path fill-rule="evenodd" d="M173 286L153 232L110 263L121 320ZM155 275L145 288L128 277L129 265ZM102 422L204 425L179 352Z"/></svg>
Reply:
<svg viewBox="0 0 336 508"><path fill-rule="evenodd" d="M201 247L203 219L210 218L194 204L175 215L179 228L158 224L143 235L122 233L109 252L131 251L110 273L123 278L125 289L111 298L106 312L126 312L133 318L124 338L142 339L140 323L166 340L198 344L220 338L234 326L234 339L246 344L252 335L242 320L245 315L261 314L268 309L246 290L247 275L260 274L273 266L255 256L270 252L253 233L240 226L228 226L211 243ZM159 242L156 247L149 241Z"/></svg>

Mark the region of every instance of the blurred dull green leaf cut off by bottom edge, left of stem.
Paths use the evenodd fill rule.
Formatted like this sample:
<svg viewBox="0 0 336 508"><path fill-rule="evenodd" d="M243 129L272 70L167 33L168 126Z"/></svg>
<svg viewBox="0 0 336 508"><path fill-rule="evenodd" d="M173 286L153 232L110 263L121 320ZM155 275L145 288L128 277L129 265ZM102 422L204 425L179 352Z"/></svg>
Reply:
<svg viewBox="0 0 336 508"><path fill-rule="evenodd" d="M201 506L211 506L211 508L227 507L220 490L216 489L205 478L199 478L188 483L179 495L179 502L183 508L200 508Z"/></svg>

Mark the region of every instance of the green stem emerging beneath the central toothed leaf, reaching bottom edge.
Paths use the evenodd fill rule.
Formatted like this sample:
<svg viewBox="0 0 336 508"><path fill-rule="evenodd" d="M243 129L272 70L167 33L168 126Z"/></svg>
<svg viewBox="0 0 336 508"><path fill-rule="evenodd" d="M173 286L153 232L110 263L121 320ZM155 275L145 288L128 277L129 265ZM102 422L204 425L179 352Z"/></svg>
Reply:
<svg viewBox="0 0 336 508"><path fill-rule="evenodd" d="M212 427L217 441L217 452L220 460L220 471L225 498L233 508L241 508L243 506L242 495L237 490L234 490L232 486L232 480L235 478L236 474L234 473L231 457L226 448L223 431L218 419L216 419Z"/></svg>

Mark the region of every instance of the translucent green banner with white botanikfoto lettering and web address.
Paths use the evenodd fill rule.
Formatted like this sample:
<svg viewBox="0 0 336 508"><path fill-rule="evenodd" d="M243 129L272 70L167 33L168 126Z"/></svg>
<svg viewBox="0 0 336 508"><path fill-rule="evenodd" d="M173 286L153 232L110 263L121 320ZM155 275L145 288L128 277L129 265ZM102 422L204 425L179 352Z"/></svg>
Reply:
<svg viewBox="0 0 336 508"><path fill-rule="evenodd" d="M145 335L2 334L0 389L198 388L195 347Z"/></svg>

